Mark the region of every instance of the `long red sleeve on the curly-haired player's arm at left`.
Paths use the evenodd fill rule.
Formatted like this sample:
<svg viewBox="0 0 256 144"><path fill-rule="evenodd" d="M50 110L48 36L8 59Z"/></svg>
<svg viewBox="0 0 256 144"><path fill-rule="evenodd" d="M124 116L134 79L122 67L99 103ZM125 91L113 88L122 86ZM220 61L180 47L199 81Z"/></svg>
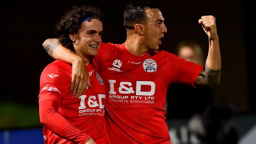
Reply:
<svg viewBox="0 0 256 144"><path fill-rule="evenodd" d="M51 63L41 74L39 93L39 116L41 123L56 135L76 144L83 144L88 135L70 124L58 108L61 98L69 91L70 81L66 65Z"/></svg>

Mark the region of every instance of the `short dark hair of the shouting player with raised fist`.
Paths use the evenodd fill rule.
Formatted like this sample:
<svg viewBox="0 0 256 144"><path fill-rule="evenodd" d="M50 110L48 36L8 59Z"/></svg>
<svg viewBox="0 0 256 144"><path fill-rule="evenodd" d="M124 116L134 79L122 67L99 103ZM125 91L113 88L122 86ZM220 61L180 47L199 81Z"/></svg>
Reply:
<svg viewBox="0 0 256 144"><path fill-rule="evenodd" d="M134 29L135 24L145 24L146 13L145 10L157 8L155 2L137 2L129 4L124 12L124 28L126 30Z"/></svg>

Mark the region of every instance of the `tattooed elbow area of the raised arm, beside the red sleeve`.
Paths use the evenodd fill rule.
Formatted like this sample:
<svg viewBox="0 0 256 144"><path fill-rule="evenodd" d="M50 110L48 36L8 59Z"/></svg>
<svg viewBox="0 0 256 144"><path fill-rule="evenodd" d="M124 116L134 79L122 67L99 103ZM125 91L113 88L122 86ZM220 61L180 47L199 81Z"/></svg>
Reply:
<svg viewBox="0 0 256 144"><path fill-rule="evenodd" d="M221 69L213 70L205 65L204 70L202 70L195 80L195 83L202 85L218 85L221 79Z"/></svg>

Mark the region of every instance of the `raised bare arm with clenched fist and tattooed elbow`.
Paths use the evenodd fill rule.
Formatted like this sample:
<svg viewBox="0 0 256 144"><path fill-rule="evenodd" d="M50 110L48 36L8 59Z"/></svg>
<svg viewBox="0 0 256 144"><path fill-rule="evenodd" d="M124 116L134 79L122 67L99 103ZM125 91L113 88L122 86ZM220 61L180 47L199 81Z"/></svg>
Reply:
<svg viewBox="0 0 256 144"><path fill-rule="evenodd" d="M218 85L221 78L221 52L219 49L219 37L217 35L217 28L215 17L202 16L198 20L202 25L204 32L209 37L209 51L204 66L197 77L195 83L202 85Z"/></svg>

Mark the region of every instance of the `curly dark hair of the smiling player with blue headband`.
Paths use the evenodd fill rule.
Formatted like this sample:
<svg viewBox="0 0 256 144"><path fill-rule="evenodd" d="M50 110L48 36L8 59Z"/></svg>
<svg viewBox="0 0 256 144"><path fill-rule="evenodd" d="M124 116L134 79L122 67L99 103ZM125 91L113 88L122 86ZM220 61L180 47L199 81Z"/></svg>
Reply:
<svg viewBox="0 0 256 144"><path fill-rule="evenodd" d="M102 20L102 12L94 6L72 6L57 23L59 40L63 46L74 51L73 41L69 38L70 33L78 33L78 29L85 18L97 18ZM91 21L89 19L88 21Z"/></svg>

